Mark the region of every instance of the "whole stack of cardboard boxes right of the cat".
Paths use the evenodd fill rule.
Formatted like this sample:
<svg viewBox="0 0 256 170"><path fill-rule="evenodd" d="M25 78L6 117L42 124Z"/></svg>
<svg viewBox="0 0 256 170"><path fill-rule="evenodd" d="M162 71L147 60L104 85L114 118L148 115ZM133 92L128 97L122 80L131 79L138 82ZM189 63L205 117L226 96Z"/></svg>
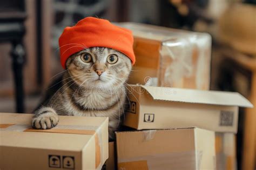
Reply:
<svg viewBox="0 0 256 170"><path fill-rule="evenodd" d="M123 123L135 130L116 132L118 169L226 169L230 163L220 161L226 156L222 135L237 133L238 107L252 104L239 93L206 91L211 37L119 25L133 31L137 62L127 85Z"/></svg>

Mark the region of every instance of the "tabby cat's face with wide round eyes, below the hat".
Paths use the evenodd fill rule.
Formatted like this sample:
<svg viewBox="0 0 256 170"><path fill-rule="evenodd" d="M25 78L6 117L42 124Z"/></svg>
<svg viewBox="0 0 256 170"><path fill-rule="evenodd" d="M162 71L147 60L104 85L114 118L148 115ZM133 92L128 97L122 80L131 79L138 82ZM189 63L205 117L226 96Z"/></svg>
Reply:
<svg viewBox="0 0 256 170"><path fill-rule="evenodd" d="M106 47L91 47L70 56L70 76L87 88L118 87L127 80L132 63L123 53Z"/></svg>

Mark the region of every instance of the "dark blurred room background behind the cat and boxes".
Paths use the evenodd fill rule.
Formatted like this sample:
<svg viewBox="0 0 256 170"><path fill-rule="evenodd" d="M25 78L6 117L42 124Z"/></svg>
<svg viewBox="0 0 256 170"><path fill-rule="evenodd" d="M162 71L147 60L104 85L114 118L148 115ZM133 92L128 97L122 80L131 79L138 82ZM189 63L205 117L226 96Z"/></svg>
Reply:
<svg viewBox="0 0 256 170"><path fill-rule="evenodd" d="M87 16L210 33L210 89L237 91L255 106L255 0L0 0L0 112L33 111L63 71L58 37ZM240 110L235 164L255 169L255 110L246 112Z"/></svg>

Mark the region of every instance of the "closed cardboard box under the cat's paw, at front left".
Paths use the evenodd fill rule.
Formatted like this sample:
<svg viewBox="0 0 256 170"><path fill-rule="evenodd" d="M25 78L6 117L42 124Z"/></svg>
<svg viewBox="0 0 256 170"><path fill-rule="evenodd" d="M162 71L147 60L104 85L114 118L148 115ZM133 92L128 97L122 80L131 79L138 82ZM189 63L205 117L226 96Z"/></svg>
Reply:
<svg viewBox="0 0 256 170"><path fill-rule="evenodd" d="M60 116L50 130L32 114L0 113L0 169L100 169L108 158L108 118Z"/></svg>

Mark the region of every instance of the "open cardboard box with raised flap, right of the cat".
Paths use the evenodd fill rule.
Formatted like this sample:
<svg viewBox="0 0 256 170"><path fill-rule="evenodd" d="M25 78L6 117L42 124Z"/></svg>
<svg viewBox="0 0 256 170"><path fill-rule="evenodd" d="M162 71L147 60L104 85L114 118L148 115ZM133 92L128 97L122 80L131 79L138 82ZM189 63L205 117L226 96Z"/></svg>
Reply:
<svg viewBox="0 0 256 170"><path fill-rule="evenodd" d="M238 106L252 107L236 92L127 86L124 125L137 130L199 127L237 133Z"/></svg>

